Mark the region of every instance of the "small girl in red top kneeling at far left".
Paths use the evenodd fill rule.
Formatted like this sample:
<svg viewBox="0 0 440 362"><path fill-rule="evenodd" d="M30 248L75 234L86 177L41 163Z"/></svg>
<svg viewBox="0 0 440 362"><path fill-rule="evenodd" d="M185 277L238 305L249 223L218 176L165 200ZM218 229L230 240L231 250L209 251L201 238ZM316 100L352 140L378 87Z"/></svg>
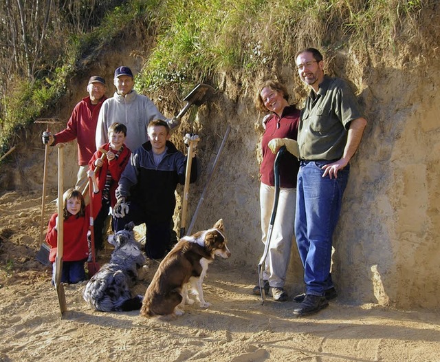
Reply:
<svg viewBox="0 0 440 362"><path fill-rule="evenodd" d="M87 175L91 178L94 185L92 207L93 217L100 208L101 193L98 189L94 171L88 171ZM86 279L84 264L89 257L89 244L87 242L87 232L90 223L90 206L85 206L83 195L77 189L68 189L63 195L63 272L61 275L62 283L76 284ZM55 280L55 257L58 239L58 213L50 217L47 226L46 242L50 245L49 260L53 263L52 284Z"/></svg>

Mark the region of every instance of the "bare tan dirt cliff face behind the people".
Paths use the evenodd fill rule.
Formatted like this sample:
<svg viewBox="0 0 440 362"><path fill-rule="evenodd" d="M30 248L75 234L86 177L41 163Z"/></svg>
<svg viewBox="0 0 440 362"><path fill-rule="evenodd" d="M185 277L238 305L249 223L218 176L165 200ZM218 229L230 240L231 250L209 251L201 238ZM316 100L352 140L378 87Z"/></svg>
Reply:
<svg viewBox="0 0 440 362"><path fill-rule="evenodd" d="M129 54L131 45L127 45ZM338 56L340 58L338 58ZM439 61L432 59L426 69L401 61L373 59L367 66L355 54L339 54L329 64L330 74L349 79L359 94L367 120L362 145L351 162L351 176L338 228L334 235L333 279L342 300L350 304L380 304L399 308L438 308L440 305L440 80ZM404 56L401 55L401 58ZM344 59L343 64L339 63ZM109 83L114 92L113 70L119 65L133 70L142 66L138 58L107 53L91 69ZM343 66L342 66L342 65ZM241 83L229 76L217 81L211 100L187 115L172 140L183 151L184 134L199 134L200 177L190 186L189 220L197 209L214 159L226 130L230 134L219 156L219 164L193 231L223 218L232 256L228 263L246 266L255 275L263 252L259 216L259 142L263 114L252 103L263 76L274 74L300 100L305 88L289 65L274 67L272 73L257 76L254 83ZM88 78L74 79L69 94L56 116L62 129L70 111L85 93ZM295 93L296 92L296 93ZM150 95L166 116L179 109L169 108L157 95ZM180 95L183 98L185 95ZM184 104L181 104L183 107ZM2 189L38 190L43 180L42 125L23 132L19 150L2 165ZM74 184L77 171L76 143L65 150L65 184ZM49 157L49 189L56 189L56 149ZM177 190L181 195L183 188ZM179 227L179 206L175 225ZM294 246L287 290L303 291L303 268Z"/></svg>

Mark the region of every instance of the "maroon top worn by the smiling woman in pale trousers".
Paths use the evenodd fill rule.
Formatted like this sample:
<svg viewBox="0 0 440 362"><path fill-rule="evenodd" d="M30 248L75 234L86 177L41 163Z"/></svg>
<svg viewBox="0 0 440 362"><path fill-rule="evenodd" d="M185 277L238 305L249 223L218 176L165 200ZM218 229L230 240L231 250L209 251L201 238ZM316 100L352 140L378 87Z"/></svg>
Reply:
<svg viewBox="0 0 440 362"><path fill-rule="evenodd" d="M261 140L261 149L263 151L263 162L261 162L260 173L261 182L269 186L275 185L274 162L276 154L272 153L267 146L273 138L292 138L296 140L298 136L298 123L300 119L300 111L293 105L289 105L283 109L283 114L279 118L276 114L268 118L266 129ZM286 152L280 162L280 178L281 187L296 187L296 176L299 169L298 158L292 153Z"/></svg>

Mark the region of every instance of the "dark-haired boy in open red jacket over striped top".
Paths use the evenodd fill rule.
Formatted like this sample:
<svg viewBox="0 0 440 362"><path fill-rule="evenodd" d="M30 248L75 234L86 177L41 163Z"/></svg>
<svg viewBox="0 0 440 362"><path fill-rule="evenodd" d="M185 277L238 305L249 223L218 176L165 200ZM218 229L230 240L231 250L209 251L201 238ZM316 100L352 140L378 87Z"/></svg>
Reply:
<svg viewBox="0 0 440 362"><path fill-rule="evenodd" d="M106 157L102 158L102 151L98 149L89 162L89 169L96 172L98 187L102 190L102 203L94 222L97 250L104 247L103 235L107 233L109 226L107 220L109 220L110 206L113 208L116 204L115 190L118 187L121 173L130 160L131 151L124 144L125 138L126 126L122 123L113 123L109 127L110 142L100 147L107 151Z"/></svg>

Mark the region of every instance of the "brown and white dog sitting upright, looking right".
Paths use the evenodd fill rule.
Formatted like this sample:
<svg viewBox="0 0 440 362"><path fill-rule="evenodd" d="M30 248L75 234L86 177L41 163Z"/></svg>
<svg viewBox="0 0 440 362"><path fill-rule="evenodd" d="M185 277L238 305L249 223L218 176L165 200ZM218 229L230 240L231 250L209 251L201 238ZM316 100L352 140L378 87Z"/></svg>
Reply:
<svg viewBox="0 0 440 362"><path fill-rule="evenodd" d="M210 306L203 299L203 278L215 255L223 258L231 255L223 233L220 219L209 230L182 237L159 264L146 289L140 314L144 317L183 315L185 303L194 302L188 297L188 288L197 293L202 308Z"/></svg>

